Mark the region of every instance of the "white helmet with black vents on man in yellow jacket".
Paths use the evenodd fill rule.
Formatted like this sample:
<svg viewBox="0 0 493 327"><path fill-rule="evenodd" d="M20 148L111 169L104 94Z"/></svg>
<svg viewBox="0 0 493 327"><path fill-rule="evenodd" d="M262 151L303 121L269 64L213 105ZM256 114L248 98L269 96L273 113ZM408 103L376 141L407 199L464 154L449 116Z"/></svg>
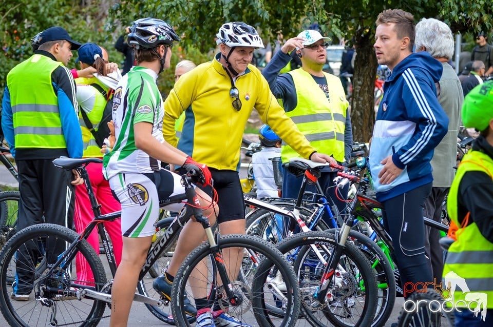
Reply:
<svg viewBox="0 0 493 327"><path fill-rule="evenodd" d="M263 48L263 42L257 30L242 22L223 24L216 36L217 44L224 43L228 47Z"/></svg>

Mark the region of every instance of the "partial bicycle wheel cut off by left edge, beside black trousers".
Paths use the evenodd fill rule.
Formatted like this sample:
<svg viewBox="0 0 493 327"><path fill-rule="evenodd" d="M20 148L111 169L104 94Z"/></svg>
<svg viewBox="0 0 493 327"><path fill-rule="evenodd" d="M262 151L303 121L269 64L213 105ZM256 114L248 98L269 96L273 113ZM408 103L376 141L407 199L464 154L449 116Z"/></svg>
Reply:
<svg viewBox="0 0 493 327"><path fill-rule="evenodd" d="M0 192L0 249L16 232L20 199L21 193L18 191Z"/></svg>

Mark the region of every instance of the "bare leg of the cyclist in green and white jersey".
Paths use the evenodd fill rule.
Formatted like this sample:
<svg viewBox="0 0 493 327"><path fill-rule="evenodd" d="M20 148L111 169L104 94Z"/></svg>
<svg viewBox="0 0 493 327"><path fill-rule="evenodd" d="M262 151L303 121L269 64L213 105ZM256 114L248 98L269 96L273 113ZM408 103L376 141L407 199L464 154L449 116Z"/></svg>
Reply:
<svg viewBox="0 0 493 327"><path fill-rule="evenodd" d="M122 261L111 288L111 327L126 326L139 273L144 265L153 236L123 237Z"/></svg>

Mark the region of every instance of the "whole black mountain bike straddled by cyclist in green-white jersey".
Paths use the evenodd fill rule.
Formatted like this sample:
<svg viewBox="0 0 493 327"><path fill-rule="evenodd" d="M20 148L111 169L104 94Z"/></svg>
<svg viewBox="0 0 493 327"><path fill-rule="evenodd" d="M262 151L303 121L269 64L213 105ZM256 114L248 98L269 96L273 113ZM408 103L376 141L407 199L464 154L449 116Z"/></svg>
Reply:
<svg viewBox="0 0 493 327"><path fill-rule="evenodd" d="M98 228L100 235L105 238L103 240L105 253L114 274L115 259L102 222L120 218L121 211L101 215L84 168L90 162L101 162L101 159L61 157L53 160L53 164L57 167L66 170L76 169L84 179L94 219L82 234L79 235L54 224L37 224L15 234L0 252L0 310L12 326L37 324L39 321L53 326L95 326L102 318L108 317L103 315L105 307L111 305L112 281L107 281L101 259L86 238L94 228ZM193 290L188 283L188 277L197 265L201 265L197 270L200 272L203 272L202 268L205 265L208 275L207 282L203 284L206 288L199 291L203 291L211 303L221 301L224 309L229 309L230 314L236 314L239 318L250 313L260 326L293 326L299 313L299 287L287 259L272 244L253 236L235 234L215 236L207 217L202 216L202 208L194 205L198 203L198 199L193 181L197 181L198 178L200 178L199 174L194 171L183 175L185 193L166 200L166 204L169 200L174 202L186 200L186 202L166 231L151 245L139 276L139 286L134 301L143 302L154 308L153 314L158 318L162 307L166 304L170 305L174 323L179 326L190 325L195 317L188 316L182 311L186 294ZM192 215L202 224L208 241L202 243L183 261L173 284L174 301L166 303L163 299L150 297L146 283L143 281L144 277L170 244L174 243L180 230ZM160 227L156 226L157 229ZM233 268L222 259L222 252L232 248L240 248L242 249L240 253L244 254L241 257L239 273L231 273L230 269ZM88 261L93 273L91 280L77 278L75 273L77 254L81 254ZM41 262L46 262L46 268L36 271ZM236 266L234 269L237 270ZM13 272L30 277L23 277L24 281L29 279L29 287L32 289L27 301L18 302L10 297L12 286L9 285L7 276ZM274 277L280 281L277 288L272 287L271 279ZM188 296L191 297L193 296ZM276 306L274 298L282 303L280 319L272 319L269 315L268 308ZM169 318L167 314L161 316L164 318L163 321Z"/></svg>

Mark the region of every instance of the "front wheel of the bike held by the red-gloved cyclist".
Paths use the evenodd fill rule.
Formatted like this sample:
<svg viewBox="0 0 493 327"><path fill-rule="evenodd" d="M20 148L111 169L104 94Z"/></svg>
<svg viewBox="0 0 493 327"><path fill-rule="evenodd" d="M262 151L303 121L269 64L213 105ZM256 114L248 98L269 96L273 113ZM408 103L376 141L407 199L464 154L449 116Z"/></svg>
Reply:
<svg viewBox="0 0 493 327"><path fill-rule="evenodd" d="M210 306L216 304L243 322L251 323L256 319L259 326L294 326L299 313L299 288L286 258L272 244L251 235L221 236L218 248L223 255L226 252L239 254L237 258L235 255L218 258L227 273L234 276L230 277L234 304L228 305L224 297L222 281L213 269L216 261L213 267L201 264L211 255L208 242L204 242L186 257L175 276L171 296L175 299L172 310L177 325L190 325L185 319L184 298L191 301L202 298ZM215 292L210 293L211 288ZM207 297L207 294L211 296ZM284 314L279 319L272 319L268 308L276 305Z"/></svg>

